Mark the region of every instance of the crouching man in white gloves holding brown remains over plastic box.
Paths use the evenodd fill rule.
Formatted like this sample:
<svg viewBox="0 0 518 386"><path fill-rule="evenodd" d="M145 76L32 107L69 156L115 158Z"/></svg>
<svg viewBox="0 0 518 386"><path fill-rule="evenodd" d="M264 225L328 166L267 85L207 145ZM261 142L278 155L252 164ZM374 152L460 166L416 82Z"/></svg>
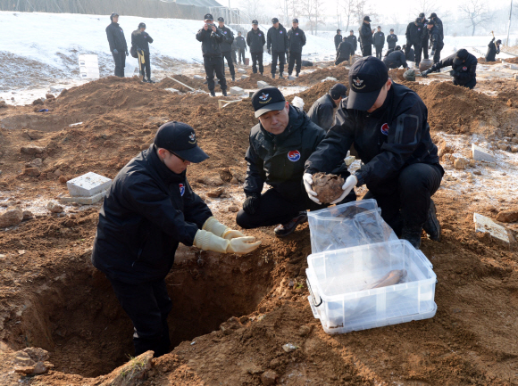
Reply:
<svg viewBox="0 0 518 386"><path fill-rule="evenodd" d="M422 229L439 241L440 226L430 197L444 169L430 138L428 110L418 94L388 78L383 62L363 58L349 71L349 96L340 103L335 125L305 162L310 198L312 175L329 173L355 144L363 166L347 177L345 197L367 185L363 199L375 199L381 216L396 234L419 248Z"/></svg>

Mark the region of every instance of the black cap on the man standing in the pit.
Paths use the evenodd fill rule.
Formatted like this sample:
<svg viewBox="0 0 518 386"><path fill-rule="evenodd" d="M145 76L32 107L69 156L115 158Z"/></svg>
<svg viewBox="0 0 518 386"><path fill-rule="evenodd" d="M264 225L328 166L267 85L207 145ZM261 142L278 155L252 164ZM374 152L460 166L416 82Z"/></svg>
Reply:
<svg viewBox="0 0 518 386"><path fill-rule="evenodd" d="M156 132L154 143L156 147L162 147L192 163L209 158L198 147L194 128L188 126L187 123L174 120L163 124Z"/></svg>

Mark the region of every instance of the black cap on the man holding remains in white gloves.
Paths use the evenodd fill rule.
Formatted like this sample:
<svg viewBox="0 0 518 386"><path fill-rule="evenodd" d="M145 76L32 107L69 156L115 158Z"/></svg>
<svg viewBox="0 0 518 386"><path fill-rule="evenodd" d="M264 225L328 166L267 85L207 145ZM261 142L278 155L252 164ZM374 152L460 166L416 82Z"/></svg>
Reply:
<svg viewBox="0 0 518 386"><path fill-rule="evenodd" d="M358 59L349 70L349 98L347 109L369 110L381 88L387 83L388 70L385 63L373 56Z"/></svg>

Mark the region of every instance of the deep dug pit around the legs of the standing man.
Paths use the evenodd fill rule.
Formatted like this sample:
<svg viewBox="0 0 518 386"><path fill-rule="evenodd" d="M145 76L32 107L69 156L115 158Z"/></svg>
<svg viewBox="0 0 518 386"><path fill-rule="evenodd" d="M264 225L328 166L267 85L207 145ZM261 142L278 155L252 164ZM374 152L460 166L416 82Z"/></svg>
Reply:
<svg viewBox="0 0 518 386"><path fill-rule="evenodd" d="M63 267L62 275L33 292L18 324L21 331L13 333L25 345L49 351L54 370L95 377L133 355L133 327L111 284L88 260L85 255ZM200 254L180 247L166 278L173 303L171 349L217 330L230 316L252 313L271 290L271 268L258 256Z"/></svg>

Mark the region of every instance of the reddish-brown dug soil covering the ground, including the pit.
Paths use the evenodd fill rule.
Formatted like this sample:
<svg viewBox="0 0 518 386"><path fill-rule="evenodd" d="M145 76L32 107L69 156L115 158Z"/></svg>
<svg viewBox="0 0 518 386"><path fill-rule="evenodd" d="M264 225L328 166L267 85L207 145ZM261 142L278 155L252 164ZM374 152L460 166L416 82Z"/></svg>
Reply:
<svg viewBox="0 0 518 386"><path fill-rule="evenodd" d="M347 84L345 67L317 71L296 81L314 85L298 94L305 110L332 86L322 78ZM447 82L408 84L428 106L439 144L446 134L518 136L518 109L505 102L513 85L503 81L502 95L489 96ZM256 123L249 99L219 110L216 98L171 94L163 86L103 78L46 101L46 113L33 106L0 109L0 205L34 207L64 192L54 174L58 169L67 179L88 171L114 177L153 141L157 127L173 119L195 127L211 157L188 170L197 192L205 196L217 177L242 180L248 133ZM69 127L77 122L82 123ZM46 150L38 156L21 153L28 145ZM22 175L25 163L37 157L41 176ZM434 196L443 240L422 239L422 252L438 275L434 318L323 333L307 301L308 226L285 239L273 237L272 227L244 231L263 244L243 257L180 248L166 279L174 304L171 353L154 359L147 378L134 384L259 385L275 377L287 385L517 384L516 243L505 246L475 234L472 225L473 211L496 218L500 210L515 208L515 197L480 200L479 189L464 177L450 177L456 172L444 165L447 177ZM489 173L486 167L478 170ZM241 186L223 187L230 199L210 204L223 223L235 226L229 208L242 201ZM60 215L42 210L0 233L1 384L109 384L121 373L115 367L132 354L129 319L89 262L99 208L67 207ZM507 226L518 236L518 225ZM286 343L297 349L285 352ZM28 346L49 351L54 368L48 374L13 373L14 352Z"/></svg>

